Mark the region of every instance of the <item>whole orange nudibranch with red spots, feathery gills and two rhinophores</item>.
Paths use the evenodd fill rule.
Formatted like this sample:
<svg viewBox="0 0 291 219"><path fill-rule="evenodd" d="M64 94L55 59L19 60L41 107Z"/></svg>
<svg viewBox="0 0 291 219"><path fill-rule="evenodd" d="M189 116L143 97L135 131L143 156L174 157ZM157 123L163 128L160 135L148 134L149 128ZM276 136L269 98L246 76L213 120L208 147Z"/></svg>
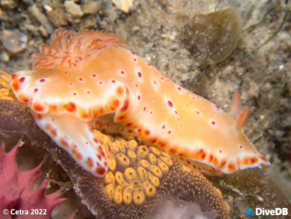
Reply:
<svg viewBox="0 0 291 219"><path fill-rule="evenodd" d="M10 85L38 126L94 176L109 163L92 128L138 136L208 174L270 164L242 130L249 108L239 111L238 91L230 116L120 47L128 44L119 36L60 28L51 41Z"/></svg>

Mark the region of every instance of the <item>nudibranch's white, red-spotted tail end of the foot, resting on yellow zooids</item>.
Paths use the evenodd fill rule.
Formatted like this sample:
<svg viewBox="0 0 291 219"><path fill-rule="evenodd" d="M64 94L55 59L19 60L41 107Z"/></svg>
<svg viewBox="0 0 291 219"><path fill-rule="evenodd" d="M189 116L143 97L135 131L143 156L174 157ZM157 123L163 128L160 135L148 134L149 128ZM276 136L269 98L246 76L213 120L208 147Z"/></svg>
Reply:
<svg viewBox="0 0 291 219"><path fill-rule="evenodd" d="M37 114L33 110L31 113L38 127L66 150L82 168L98 177L107 173L107 155L88 122L70 114Z"/></svg>

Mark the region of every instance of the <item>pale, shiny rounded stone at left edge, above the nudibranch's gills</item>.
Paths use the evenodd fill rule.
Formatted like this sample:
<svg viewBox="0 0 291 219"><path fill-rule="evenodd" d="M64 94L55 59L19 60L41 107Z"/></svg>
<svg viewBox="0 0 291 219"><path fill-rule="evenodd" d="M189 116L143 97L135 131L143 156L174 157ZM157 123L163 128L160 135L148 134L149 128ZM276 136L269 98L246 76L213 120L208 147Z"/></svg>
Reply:
<svg viewBox="0 0 291 219"><path fill-rule="evenodd" d="M26 48L27 36L17 29L3 30L0 40L9 52L18 53Z"/></svg>

